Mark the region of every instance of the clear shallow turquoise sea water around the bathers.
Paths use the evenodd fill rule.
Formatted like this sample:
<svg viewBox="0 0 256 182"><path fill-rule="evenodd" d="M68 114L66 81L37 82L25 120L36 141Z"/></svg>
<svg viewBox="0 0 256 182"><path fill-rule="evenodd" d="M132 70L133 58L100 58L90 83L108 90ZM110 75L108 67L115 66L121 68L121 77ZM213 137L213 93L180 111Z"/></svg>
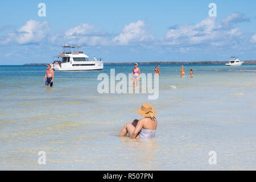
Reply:
<svg viewBox="0 0 256 182"><path fill-rule="evenodd" d="M256 65L160 65L159 97L99 94L104 71L55 72L45 88L45 66L0 66L0 169L247 170L256 169ZM155 65L140 65L142 73ZM189 69L194 78L189 78ZM116 137L149 102L158 112L156 137ZM46 165L38 152L46 152ZM209 151L217 164L209 165Z"/></svg>

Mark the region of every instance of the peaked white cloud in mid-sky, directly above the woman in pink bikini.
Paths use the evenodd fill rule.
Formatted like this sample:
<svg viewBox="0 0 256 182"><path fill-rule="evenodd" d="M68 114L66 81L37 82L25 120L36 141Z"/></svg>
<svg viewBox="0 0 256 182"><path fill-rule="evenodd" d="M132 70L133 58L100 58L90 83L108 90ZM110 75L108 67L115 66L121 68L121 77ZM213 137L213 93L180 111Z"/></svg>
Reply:
<svg viewBox="0 0 256 182"><path fill-rule="evenodd" d="M118 36L115 36L113 42L118 42L121 45L127 45L132 42L144 42L153 40L154 36L147 34L144 30L145 24L142 20L130 23L123 28L123 31Z"/></svg>

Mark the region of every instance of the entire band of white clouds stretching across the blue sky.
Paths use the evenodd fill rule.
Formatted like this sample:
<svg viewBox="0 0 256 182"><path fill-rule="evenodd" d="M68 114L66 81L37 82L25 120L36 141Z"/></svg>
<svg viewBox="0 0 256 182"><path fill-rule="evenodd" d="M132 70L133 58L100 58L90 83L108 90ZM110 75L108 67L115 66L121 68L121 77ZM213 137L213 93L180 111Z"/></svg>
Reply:
<svg viewBox="0 0 256 182"><path fill-rule="evenodd" d="M5 36L0 36L0 44L42 42L56 45L72 43L79 46L138 46L139 44L141 47L151 49L155 48L156 43L159 43L159 45L168 45L170 49L177 48L183 52L193 48L202 50L206 47L232 48L232 46L240 46L239 48L241 48L246 43L256 43L256 34L248 36L249 33L236 26L236 23L248 20L240 13L231 14L221 19L220 22L217 22L214 17L208 17L196 24L185 24L180 27L170 26L170 30L160 40L155 40L154 36L148 33L147 26L142 20L126 24L122 32L115 36L89 23L63 31L49 32L48 22L28 20L18 30L10 31L12 27L0 27L0 31L3 30L2 34L5 34Z"/></svg>

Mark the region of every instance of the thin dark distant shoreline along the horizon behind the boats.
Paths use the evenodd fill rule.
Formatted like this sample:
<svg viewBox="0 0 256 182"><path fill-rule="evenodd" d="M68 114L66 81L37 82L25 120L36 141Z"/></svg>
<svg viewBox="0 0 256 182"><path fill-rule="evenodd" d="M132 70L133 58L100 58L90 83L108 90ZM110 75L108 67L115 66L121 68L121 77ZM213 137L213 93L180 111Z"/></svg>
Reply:
<svg viewBox="0 0 256 182"><path fill-rule="evenodd" d="M135 62L130 63L104 63L104 65L133 65ZM193 65L193 64L225 64L228 61L187 61L187 62L178 62L178 61L153 61L153 62L137 62L140 65ZM47 65L49 63L27 63L23 65ZM256 64L256 60L244 61L243 64Z"/></svg>

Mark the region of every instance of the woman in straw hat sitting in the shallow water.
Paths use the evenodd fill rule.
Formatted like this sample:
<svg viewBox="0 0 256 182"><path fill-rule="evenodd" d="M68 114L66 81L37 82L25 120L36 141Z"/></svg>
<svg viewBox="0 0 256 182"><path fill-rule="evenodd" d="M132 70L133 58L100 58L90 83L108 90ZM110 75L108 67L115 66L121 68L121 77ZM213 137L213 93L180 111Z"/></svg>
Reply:
<svg viewBox="0 0 256 182"><path fill-rule="evenodd" d="M152 138L155 137L156 127L158 122L156 121L155 109L148 103L142 104L141 108L136 111L136 113L141 114L144 118L139 119L138 123L126 123L119 133L120 137L124 137L129 134L131 138Z"/></svg>

